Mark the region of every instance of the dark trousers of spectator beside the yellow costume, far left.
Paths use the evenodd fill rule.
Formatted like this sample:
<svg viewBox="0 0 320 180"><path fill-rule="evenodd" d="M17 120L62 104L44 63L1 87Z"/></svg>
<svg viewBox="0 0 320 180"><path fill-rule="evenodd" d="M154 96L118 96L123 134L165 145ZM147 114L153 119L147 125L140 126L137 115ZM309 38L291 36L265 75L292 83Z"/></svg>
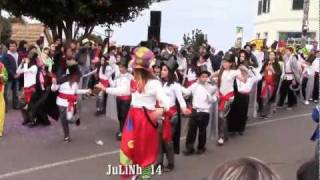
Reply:
<svg viewBox="0 0 320 180"><path fill-rule="evenodd" d="M18 109L20 104L19 104L19 80L14 79L11 81L8 81L5 85L4 88L4 100L6 104L9 104L9 92L12 90L12 107L15 109ZM8 106L6 106L8 107Z"/></svg>

